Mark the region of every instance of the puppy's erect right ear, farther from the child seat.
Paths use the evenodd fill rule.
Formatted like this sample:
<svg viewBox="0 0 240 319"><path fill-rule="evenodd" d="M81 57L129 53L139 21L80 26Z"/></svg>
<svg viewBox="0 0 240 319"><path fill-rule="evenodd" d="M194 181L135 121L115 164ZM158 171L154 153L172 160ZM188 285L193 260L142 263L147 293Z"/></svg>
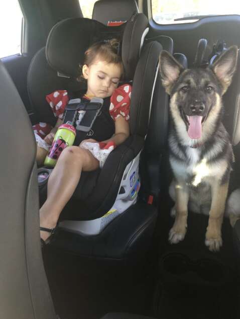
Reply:
<svg viewBox="0 0 240 319"><path fill-rule="evenodd" d="M236 69L236 62L237 46L234 45L224 51L211 67L223 86L223 93L226 92L231 83L232 75Z"/></svg>

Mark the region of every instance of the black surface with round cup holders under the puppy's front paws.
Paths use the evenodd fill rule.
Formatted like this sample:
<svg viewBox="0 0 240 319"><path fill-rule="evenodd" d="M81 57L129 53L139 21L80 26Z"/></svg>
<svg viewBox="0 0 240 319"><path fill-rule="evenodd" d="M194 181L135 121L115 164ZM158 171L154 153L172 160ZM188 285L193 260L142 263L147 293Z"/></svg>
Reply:
<svg viewBox="0 0 240 319"><path fill-rule="evenodd" d="M164 200L163 200L164 199ZM212 253L204 245L208 216L189 213L183 242L170 245L170 199L162 197L158 232L159 271L154 314L162 319L235 319L239 302L232 229L222 227L223 246Z"/></svg>

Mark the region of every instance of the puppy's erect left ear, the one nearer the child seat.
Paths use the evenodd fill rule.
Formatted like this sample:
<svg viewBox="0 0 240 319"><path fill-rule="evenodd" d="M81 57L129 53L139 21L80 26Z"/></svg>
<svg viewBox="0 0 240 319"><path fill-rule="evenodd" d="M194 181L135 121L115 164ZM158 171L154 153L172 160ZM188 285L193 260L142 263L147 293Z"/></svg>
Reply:
<svg viewBox="0 0 240 319"><path fill-rule="evenodd" d="M162 84L168 94L171 93L174 83L177 81L183 67L174 57L163 50L159 56L159 68L162 77Z"/></svg>

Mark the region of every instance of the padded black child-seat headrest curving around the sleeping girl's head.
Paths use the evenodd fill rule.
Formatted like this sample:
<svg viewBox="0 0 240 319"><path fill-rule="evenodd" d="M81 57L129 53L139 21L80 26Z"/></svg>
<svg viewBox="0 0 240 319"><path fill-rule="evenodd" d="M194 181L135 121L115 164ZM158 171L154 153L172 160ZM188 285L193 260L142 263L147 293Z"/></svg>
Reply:
<svg viewBox="0 0 240 319"><path fill-rule="evenodd" d="M86 49L94 42L116 37L122 40L125 78L133 79L142 36L147 25L148 19L143 14L136 14L126 24L118 27L107 27L98 21L86 18L60 21L48 36L47 61L54 70L70 77L77 77L79 63L83 63Z"/></svg>

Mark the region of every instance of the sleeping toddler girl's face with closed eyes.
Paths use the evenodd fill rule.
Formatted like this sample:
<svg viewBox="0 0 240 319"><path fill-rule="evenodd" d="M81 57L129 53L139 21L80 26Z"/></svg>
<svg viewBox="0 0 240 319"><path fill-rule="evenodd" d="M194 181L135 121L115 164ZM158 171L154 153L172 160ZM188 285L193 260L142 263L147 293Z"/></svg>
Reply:
<svg viewBox="0 0 240 319"><path fill-rule="evenodd" d="M122 68L119 64L95 59L90 66L83 65L82 73L87 79L87 95L104 99L117 88Z"/></svg>

